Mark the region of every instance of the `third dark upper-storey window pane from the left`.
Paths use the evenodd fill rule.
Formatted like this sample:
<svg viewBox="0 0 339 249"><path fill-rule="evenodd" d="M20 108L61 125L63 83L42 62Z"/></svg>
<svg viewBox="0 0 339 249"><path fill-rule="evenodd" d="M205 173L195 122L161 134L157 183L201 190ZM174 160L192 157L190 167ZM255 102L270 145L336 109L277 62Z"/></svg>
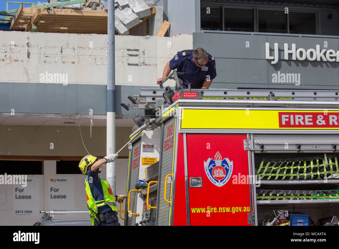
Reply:
<svg viewBox="0 0 339 249"><path fill-rule="evenodd" d="M286 33L286 14L283 11L258 10L259 32Z"/></svg>

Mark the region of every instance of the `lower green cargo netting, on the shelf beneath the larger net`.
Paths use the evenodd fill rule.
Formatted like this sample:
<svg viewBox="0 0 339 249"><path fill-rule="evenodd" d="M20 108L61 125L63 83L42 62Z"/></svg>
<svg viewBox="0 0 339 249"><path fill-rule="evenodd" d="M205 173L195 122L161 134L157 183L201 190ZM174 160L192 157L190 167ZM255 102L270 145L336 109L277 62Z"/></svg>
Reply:
<svg viewBox="0 0 339 249"><path fill-rule="evenodd" d="M258 201L339 199L339 190L257 190Z"/></svg>

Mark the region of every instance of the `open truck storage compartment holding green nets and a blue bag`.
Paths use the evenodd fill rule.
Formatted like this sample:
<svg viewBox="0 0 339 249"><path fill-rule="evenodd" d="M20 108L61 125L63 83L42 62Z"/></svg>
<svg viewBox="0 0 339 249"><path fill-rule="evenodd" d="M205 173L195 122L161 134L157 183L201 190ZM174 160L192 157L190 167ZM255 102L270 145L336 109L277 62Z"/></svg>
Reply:
<svg viewBox="0 0 339 249"><path fill-rule="evenodd" d="M311 225L312 221L317 224L318 220L329 215L338 216L339 170L338 154L333 153L332 143L336 142L333 136L330 139L321 136L323 144L319 145L321 141L317 140L319 138L317 135L297 135L298 143L304 145L299 148L313 147L312 153L298 151L298 148L282 149L285 143L289 148L291 144L294 147L294 143L297 147L297 143L289 139L291 135L280 141L275 139L279 136L260 135L260 142L258 136L253 136L254 142L263 143L264 146L261 145L261 148L267 148L264 151L254 151L252 157L257 180L255 191L258 225L266 225L267 221L272 221L275 213L278 215L278 210L284 213L287 222L285 224L290 222L290 225L299 226ZM312 143L313 136L316 139ZM277 153L277 150L281 152ZM311 220L297 219L294 213L305 213ZM279 220L275 225L278 223Z"/></svg>

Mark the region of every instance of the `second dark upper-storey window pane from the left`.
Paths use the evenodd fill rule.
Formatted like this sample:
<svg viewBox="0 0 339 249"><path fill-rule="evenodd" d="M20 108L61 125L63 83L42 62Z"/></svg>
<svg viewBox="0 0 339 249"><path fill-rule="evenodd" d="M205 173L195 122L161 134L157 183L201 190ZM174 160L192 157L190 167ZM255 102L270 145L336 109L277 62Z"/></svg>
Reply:
<svg viewBox="0 0 339 249"><path fill-rule="evenodd" d="M226 31L253 32L253 9L224 8Z"/></svg>

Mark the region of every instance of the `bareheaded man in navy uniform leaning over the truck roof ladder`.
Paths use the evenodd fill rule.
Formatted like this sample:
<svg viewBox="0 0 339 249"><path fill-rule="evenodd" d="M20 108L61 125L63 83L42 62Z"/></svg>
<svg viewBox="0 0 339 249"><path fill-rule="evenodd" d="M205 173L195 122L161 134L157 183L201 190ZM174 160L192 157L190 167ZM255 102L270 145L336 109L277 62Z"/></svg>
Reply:
<svg viewBox="0 0 339 249"><path fill-rule="evenodd" d="M178 78L182 80L181 86L185 89L188 88L188 84L195 89L208 89L217 76L214 57L202 47L179 51L172 60L167 62L162 78L157 79L157 84L161 84L161 81L174 69L177 69L177 72L184 72Z"/></svg>

